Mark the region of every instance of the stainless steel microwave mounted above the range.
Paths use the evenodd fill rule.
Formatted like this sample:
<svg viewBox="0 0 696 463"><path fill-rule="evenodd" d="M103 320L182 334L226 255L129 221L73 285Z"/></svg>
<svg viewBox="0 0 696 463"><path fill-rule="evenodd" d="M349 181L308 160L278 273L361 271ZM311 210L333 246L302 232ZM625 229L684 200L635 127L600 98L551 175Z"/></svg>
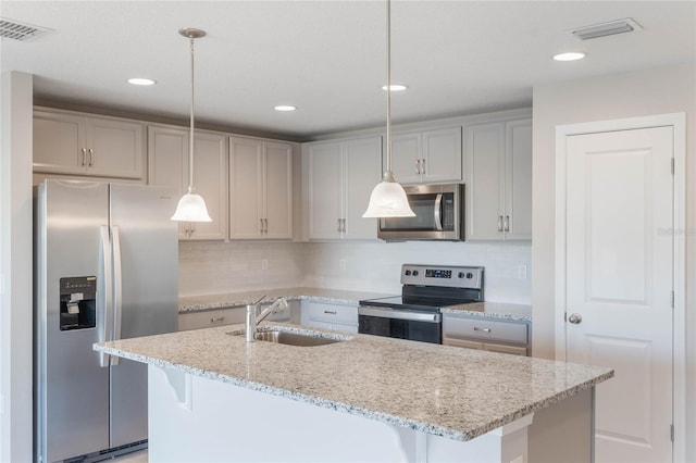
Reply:
<svg viewBox="0 0 696 463"><path fill-rule="evenodd" d="M380 218L380 239L463 241L463 184L411 185L403 189L415 216Z"/></svg>

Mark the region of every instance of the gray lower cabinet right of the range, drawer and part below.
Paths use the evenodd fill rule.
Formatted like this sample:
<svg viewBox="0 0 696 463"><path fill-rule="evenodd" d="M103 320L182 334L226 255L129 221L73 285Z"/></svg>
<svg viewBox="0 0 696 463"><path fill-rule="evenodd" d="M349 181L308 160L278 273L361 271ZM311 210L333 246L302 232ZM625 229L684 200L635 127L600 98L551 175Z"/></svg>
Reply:
<svg viewBox="0 0 696 463"><path fill-rule="evenodd" d="M443 314L443 345L529 355L530 324L521 321Z"/></svg>

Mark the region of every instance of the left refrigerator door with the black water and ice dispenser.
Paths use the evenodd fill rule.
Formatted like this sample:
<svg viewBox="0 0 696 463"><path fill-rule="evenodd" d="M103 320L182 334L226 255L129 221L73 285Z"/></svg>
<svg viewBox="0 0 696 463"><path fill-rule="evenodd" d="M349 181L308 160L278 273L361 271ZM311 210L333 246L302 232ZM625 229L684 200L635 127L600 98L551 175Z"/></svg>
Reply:
<svg viewBox="0 0 696 463"><path fill-rule="evenodd" d="M104 322L105 296L100 226L109 223L108 204L104 184L48 180L38 190L35 426L42 461L109 447L109 368L100 366L92 350L92 343L103 340L98 329ZM80 280L96 283L96 323L83 302L95 296L79 286Z"/></svg>

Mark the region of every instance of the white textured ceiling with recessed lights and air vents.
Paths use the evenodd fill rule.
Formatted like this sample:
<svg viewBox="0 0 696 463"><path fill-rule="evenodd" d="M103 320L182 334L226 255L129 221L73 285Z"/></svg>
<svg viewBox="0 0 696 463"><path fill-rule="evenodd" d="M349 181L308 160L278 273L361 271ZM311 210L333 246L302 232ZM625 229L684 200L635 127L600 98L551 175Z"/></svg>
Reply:
<svg viewBox="0 0 696 463"><path fill-rule="evenodd" d="M53 29L2 39L2 70L35 75L35 97L185 120L198 27L202 123L309 139L384 124L383 1L2 1L0 15ZM644 29L580 41L569 29L632 17ZM395 123L532 104L536 85L696 58L694 1L391 3ZM580 62L557 52L583 50ZM151 77L153 87L126 84ZM293 113L273 107L295 104Z"/></svg>

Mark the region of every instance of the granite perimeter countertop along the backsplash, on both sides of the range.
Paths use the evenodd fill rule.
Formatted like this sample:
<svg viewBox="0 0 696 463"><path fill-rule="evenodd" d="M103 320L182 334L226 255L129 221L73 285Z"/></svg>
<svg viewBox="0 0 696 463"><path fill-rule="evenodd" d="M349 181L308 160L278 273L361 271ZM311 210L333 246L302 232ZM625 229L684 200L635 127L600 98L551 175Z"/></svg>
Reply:
<svg viewBox="0 0 696 463"><path fill-rule="evenodd" d="M364 291L348 291L324 288L282 288L271 290L228 292L223 295L203 295L179 298L179 313L244 306L258 301L262 296L273 301L285 297L288 300L312 299L333 303L358 304L363 299L386 298L394 295ZM460 316L485 316L511 321L532 322L532 306L501 302L475 302L451 305L440 310L442 313Z"/></svg>

